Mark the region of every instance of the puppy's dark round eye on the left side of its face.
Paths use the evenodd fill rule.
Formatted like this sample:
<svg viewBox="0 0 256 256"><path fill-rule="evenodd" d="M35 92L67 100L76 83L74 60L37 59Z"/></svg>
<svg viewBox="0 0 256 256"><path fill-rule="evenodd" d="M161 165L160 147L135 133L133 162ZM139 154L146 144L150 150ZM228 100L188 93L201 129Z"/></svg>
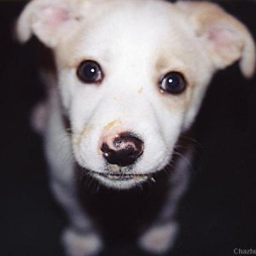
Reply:
<svg viewBox="0 0 256 256"><path fill-rule="evenodd" d="M102 68L96 61L83 61L78 68L77 75L85 84L94 84L102 81Z"/></svg>

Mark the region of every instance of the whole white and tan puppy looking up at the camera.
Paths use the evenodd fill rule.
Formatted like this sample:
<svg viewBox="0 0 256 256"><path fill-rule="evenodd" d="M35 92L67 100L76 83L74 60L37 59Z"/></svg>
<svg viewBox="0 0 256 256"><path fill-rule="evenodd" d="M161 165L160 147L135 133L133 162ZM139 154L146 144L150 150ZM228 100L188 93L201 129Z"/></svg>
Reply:
<svg viewBox="0 0 256 256"><path fill-rule="evenodd" d="M166 202L138 243L166 252L189 179L192 148L181 152L179 139L216 71L240 61L241 73L253 75L247 28L207 2L33 0L17 34L22 43L35 35L55 57L33 124L44 136L51 188L69 218L62 235L67 255L102 248L101 229L80 202L78 172L110 190L165 183Z"/></svg>

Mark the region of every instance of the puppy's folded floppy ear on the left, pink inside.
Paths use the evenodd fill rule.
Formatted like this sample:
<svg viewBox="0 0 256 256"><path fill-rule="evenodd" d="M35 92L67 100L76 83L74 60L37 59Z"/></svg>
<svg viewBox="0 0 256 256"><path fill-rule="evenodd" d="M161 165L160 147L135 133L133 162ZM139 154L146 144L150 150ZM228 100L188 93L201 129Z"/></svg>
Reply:
<svg viewBox="0 0 256 256"><path fill-rule="evenodd" d="M25 43L35 34L45 45L54 48L61 35L67 36L78 23L72 2L33 0L28 3L17 20L17 38Z"/></svg>

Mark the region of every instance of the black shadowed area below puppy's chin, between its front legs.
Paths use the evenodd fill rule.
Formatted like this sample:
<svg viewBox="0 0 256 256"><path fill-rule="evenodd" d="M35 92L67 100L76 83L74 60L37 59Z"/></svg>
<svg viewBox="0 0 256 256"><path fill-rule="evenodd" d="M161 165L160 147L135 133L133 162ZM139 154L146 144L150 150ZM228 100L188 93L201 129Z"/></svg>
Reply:
<svg viewBox="0 0 256 256"><path fill-rule="evenodd" d="M166 172L156 174L156 183L129 190L105 188L81 172L77 166L79 200L108 240L126 241L142 233L157 218L167 192L172 191Z"/></svg>

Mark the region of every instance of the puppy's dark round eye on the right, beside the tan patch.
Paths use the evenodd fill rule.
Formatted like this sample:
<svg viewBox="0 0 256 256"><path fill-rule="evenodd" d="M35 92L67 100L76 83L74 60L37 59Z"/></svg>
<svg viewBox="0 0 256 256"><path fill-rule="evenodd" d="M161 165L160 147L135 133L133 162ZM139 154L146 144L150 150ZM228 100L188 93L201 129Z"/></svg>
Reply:
<svg viewBox="0 0 256 256"><path fill-rule="evenodd" d="M170 72L160 81L160 88L170 94L180 94L186 89L186 81L181 73Z"/></svg>

